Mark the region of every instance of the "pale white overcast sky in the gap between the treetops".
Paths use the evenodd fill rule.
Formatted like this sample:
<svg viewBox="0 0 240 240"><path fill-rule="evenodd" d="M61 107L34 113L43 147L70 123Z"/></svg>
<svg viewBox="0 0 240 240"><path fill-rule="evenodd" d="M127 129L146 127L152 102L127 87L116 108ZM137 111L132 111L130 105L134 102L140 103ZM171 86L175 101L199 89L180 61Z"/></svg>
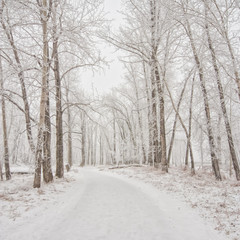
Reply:
<svg viewBox="0 0 240 240"><path fill-rule="evenodd" d="M121 0L105 0L105 11L108 13L108 18L113 19L114 26L118 26L121 22L119 10L121 10ZM108 44L103 45L101 51L107 57L107 61L111 62L109 66L104 67L105 72L101 71L93 75L92 71L88 71L81 75L84 90L87 92L92 92L94 88L99 94L104 94L123 82L123 69L118 60L118 53Z"/></svg>

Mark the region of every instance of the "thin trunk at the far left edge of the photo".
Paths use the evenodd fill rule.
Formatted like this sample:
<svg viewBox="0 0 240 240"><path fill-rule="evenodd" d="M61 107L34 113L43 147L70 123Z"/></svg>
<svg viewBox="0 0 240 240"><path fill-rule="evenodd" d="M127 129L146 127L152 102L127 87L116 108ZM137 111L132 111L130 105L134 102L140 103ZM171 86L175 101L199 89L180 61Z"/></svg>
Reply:
<svg viewBox="0 0 240 240"><path fill-rule="evenodd" d="M0 51L0 87L1 87L0 90L1 90L1 93L2 93L1 95L2 95L2 126L3 126L3 144L4 144L4 166L5 166L6 180L10 180L11 179L11 171L10 171L10 164L9 164L6 106L5 106L5 98L4 98L4 94L3 94L4 87L3 87L3 69L2 69L1 51Z"/></svg>

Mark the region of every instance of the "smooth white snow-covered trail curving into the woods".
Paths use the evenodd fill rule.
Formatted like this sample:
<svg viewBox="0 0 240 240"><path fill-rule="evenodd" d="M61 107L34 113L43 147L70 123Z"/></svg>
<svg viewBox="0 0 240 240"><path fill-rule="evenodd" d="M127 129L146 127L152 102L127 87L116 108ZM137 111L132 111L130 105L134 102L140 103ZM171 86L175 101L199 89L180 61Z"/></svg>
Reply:
<svg viewBox="0 0 240 240"><path fill-rule="evenodd" d="M3 240L221 239L182 202L151 186L85 169L55 205L9 227Z"/></svg>

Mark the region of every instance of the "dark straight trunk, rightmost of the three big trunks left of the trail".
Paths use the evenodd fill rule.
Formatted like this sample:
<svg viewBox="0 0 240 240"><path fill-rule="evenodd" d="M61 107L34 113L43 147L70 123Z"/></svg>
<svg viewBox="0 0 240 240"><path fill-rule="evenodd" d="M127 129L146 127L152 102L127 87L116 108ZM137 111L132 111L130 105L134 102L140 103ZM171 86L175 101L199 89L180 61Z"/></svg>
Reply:
<svg viewBox="0 0 240 240"><path fill-rule="evenodd" d="M64 175L63 167L63 127L62 127L62 87L58 57L58 33L57 33L57 1L54 1L53 10L53 59L54 77L56 87L56 176L62 178Z"/></svg>

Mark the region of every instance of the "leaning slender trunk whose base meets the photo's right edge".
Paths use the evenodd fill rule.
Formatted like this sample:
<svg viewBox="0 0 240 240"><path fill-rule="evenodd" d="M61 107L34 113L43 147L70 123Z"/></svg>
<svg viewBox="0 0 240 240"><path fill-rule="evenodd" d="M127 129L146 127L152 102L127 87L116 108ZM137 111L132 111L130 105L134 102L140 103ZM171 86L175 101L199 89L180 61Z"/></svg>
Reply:
<svg viewBox="0 0 240 240"><path fill-rule="evenodd" d="M235 147L234 147L234 141L233 141L233 137L232 137L232 129L231 129L230 122L229 122L229 119L228 119L225 97L224 97L224 93L223 93L223 86L222 86L222 82L221 82L221 78L220 78L219 68L218 68L218 65L217 65L217 57L216 57L216 53L215 53L215 50L213 48L213 43L212 43L212 39L211 39L211 36L210 36L206 5L205 5L205 15L206 15L205 16L206 17L206 19L205 19L206 20L205 30L206 30L206 33L207 33L208 47L209 47L210 52L211 52L212 64L213 64L214 71L215 71L215 74L216 74L219 100L220 100L221 109L222 109L222 113L223 113L226 132L227 132L228 145L229 145L229 149L230 149L231 159L232 159L233 167L234 167L234 170L235 170L236 178L239 181L240 180L240 169L239 169L238 159L237 159L237 155L236 155L236 151L235 151Z"/></svg>

